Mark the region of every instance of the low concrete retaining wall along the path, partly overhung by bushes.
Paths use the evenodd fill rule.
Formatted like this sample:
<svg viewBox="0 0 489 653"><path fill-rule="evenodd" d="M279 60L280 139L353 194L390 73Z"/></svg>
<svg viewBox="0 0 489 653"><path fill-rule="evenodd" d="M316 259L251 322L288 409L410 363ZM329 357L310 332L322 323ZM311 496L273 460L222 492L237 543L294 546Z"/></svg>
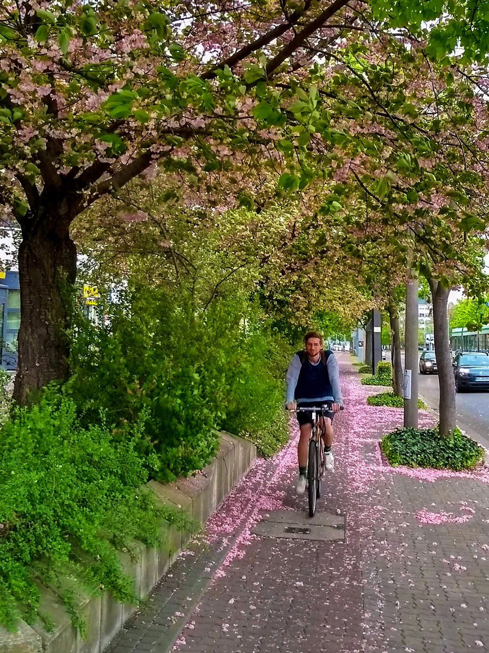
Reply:
<svg viewBox="0 0 489 653"><path fill-rule="evenodd" d="M195 477L178 479L167 485L156 481L147 484L155 492L156 500L188 513L194 522L194 532L200 530L256 459L256 447L252 443L224 432L220 436L216 458ZM160 549L149 549L135 543L136 556L131 558L121 552L123 569L134 579L138 596L142 598L151 592L192 534L182 533L166 522L162 524ZM82 554L80 562L83 563ZM15 633L0 627L0 653L102 653L136 606L119 603L109 592L97 597L87 596L74 580L73 571L70 565L66 565L62 582L74 590L78 610L87 623L85 638L80 637L72 626L55 589L40 586L40 608L44 614L50 615L55 628L48 633L40 620L33 626L20 622Z"/></svg>

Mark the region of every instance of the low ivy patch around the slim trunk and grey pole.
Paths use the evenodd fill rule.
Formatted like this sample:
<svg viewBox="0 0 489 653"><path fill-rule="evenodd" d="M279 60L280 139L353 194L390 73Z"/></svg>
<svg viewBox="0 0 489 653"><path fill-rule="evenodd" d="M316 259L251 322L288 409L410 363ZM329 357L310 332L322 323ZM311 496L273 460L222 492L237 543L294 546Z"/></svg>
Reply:
<svg viewBox="0 0 489 653"><path fill-rule="evenodd" d="M391 465L467 470L484 458L484 449L455 428L442 438L434 428L398 428L383 436L381 450Z"/></svg>

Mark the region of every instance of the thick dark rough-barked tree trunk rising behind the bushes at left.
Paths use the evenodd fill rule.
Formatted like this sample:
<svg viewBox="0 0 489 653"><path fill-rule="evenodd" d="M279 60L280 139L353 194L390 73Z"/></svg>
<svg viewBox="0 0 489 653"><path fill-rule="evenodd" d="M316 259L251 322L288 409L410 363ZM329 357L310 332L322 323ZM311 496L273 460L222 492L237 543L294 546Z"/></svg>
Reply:
<svg viewBox="0 0 489 653"><path fill-rule="evenodd" d="M39 224L39 223L38 223ZM70 295L76 278L76 246L68 227L23 229L19 248L20 330L14 400L53 380L68 378ZM58 225L58 226L57 226Z"/></svg>

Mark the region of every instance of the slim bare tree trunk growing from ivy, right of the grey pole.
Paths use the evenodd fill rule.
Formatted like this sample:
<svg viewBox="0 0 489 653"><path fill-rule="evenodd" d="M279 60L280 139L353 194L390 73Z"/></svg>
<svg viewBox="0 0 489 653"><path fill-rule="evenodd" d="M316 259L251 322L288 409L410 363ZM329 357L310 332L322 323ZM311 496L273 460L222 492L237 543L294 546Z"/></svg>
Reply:
<svg viewBox="0 0 489 653"><path fill-rule="evenodd" d="M455 382L450 355L447 302L450 288L428 279L433 299L433 331L439 385L439 434L449 436L456 425Z"/></svg>

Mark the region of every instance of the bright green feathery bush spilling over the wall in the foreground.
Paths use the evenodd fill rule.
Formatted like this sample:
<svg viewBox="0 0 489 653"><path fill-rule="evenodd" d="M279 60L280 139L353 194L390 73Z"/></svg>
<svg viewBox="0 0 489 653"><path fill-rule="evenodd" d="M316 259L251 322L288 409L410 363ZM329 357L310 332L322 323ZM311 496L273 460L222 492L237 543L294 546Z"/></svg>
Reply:
<svg viewBox="0 0 489 653"><path fill-rule="evenodd" d="M153 494L141 492L147 480L136 454L146 411L113 439L104 414L98 425L82 428L76 406L48 389L39 404L18 409L0 431L0 623L14 628L39 613L35 581L56 584L61 565L72 562L91 592L105 587L121 601L134 600L121 571L115 543L132 538L155 546L158 520L175 521L172 510L156 509ZM102 533L106 534L105 537ZM76 562L80 547L93 561ZM40 560L43 560L40 564ZM72 599L58 588L79 628Z"/></svg>

